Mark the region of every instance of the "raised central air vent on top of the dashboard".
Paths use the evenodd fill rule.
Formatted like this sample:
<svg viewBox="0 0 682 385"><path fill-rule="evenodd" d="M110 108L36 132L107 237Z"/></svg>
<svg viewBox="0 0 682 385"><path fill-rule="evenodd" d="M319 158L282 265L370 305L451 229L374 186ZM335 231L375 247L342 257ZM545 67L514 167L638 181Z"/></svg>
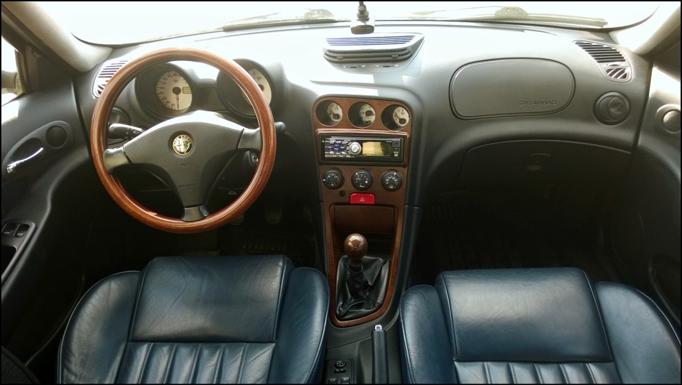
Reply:
<svg viewBox="0 0 682 385"><path fill-rule="evenodd" d="M423 36L374 34L328 38L325 59L331 63L397 63L412 58Z"/></svg>

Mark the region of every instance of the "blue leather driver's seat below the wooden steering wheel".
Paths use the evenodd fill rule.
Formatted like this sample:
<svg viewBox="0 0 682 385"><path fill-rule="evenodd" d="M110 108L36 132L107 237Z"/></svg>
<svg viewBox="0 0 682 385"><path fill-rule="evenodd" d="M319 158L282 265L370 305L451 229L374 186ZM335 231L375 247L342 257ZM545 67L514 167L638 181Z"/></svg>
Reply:
<svg viewBox="0 0 682 385"><path fill-rule="evenodd" d="M318 382L328 312L323 274L284 256L153 259L85 294L58 381Z"/></svg>

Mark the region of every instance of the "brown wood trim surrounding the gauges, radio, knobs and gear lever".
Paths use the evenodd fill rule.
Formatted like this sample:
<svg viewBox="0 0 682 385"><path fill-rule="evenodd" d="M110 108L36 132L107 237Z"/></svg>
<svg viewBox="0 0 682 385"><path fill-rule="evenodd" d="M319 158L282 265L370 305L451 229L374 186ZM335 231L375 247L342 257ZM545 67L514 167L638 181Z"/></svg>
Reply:
<svg viewBox="0 0 682 385"><path fill-rule="evenodd" d="M325 120L326 109L330 102L337 103L342 109L342 117L340 121L333 123L329 119ZM357 119L350 116L353 106L359 103L368 103L374 108L377 117L369 126L362 127L357 125ZM392 111L394 107L400 106L406 109L409 113L410 119L404 127L392 126L387 121L386 115ZM350 97L323 97L315 102L313 106L313 126L315 129L315 146L318 155L318 178L320 180L320 191L322 193L323 216L325 223L325 239L327 242L327 262L329 274L330 287L330 303L331 309L330 318L332 324L337 327L349 327L360 325L365 322L370 322L383 315L391 303L395 286L396 276L398 273L398 261L400 256L400 243L403 233L403 217L405 212L405 190L407 185L407 171L408 171L408 154L410 148L410 138L412 131L412 112L411 109L402 102L383 100L383 99L359 99ZM372 163L368 161L359 162L338 162L322 161L322 148L320 146L320 139L322 135L334 136L399 136L404 138L404 161L402 163L384 164ZM323 183L323 175L326 170L335 168L339 170L344 181L339 188L331 189ZM358 169L368 170L372 174L374 182L367 190L358 190L351 182L351 176ZM381 186L381 174L387 170L396 170L401 173L403 183L398 190L389 191ZM349 218L348 212L342 213L342 217L336 218L336 210L340 207L347 207L350 205L350 195L353 193L366 193L374 195L374 207L382 207L385 209L393 209L393 223L392 228L390 224L386 224L385 214L381 215L381 219L377 224L360 225L359 229L372 230L374 232L390 234L391 242L389 246L389 283L386 289L386 298L381 308L371 315L359 318L357 320L341 321L336 318L336 275L337 266L343 254L343 242L345 237L352 232L359 232L361 230L353 231L352 227L354 219ZM363 212L364 205L353 205L352 213L350 215L357 215L357 221L372 220L372 212ZM369 205L367 205L369 206ZM343 209L342 209L343 210ZM381 210L381 212L384 212ZM340 221L340 222L337 222ZM337 223L339 225L337 225ZM370 245L371 247L372 245Z"/></svg>

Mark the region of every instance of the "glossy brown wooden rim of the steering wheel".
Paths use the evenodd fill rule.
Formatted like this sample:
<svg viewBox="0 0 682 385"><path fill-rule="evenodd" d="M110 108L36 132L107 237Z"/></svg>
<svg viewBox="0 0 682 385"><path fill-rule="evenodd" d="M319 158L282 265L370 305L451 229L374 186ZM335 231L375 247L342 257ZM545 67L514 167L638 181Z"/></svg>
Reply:
<svg viewBox="0 0 682 385"><path fill-rule="evenodd" d="M203 219L193 222L184 222L178 218L166 217L156 212L148 210L139 202L134 200L126 192L123 185L114 175L107 173L104 168L102 153L107 149L107 130L109 116L116 99L119 97L124 87L133 80L136 75L152 65L166 63L173 60L193 60L207 65L212 65L224 72L244 90L251 105L256 112L256 119L261 133L261 153L259 163L253 178L247 185L242 195L237 197L230 205L222 210L208 215ZM156 229L175 233L195 233L204 232L227 224L245 212L259 197L270 178L270 173L274 166L276 134L274 119L270 111L268 102L259 89L253 78L240 65L233 60L221 58L219 55L191 48L164 48L156 50L139 58L131 60L118 70L111 80L104 87L102 95L97 100L92 114L92 126L90 128L90 149L94 168L97 170L99 179L102 180L104 188L115 202L131 217Z"/></svg>

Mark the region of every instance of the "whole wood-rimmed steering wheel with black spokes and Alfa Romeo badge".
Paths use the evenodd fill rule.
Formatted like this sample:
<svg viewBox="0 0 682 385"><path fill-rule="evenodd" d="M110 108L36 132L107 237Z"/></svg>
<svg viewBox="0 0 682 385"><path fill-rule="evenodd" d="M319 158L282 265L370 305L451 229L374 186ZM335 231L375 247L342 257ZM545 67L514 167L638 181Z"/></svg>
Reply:
<svg viewBox="0 0 682 385"><path fill-rule="evenodd" d="M256 112L258 129L235 124L219 114L195 111L157 124L124 146L107 149L109 115L124 87L145 68L174 60L193 60L212 65L234 80ZM251 76L232 60L191 48L165 48L131 60L109 80L97 100L90 128L94 168L104 188L134 219L166 232L193 233L215 229L245 212L259 197L270 177L276 148L275 126L270 107ZM210 213L207 200L215 180L238 152L259 152L254 176L242 195ZM114 170L135 164L168 185L184 207L180 218L148 210L126 192Z"/></svg>

